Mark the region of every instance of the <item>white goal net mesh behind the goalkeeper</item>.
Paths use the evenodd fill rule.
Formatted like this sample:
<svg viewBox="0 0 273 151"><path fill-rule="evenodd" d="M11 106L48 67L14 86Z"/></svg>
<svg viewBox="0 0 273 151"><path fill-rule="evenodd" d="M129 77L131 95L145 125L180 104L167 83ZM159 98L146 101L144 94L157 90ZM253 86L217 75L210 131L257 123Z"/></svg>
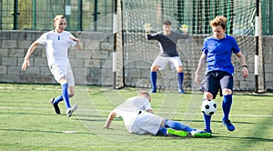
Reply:
<svg viewBox="0 0 273 151"><path fill-rule="evenodd" d="M126 86L150 87L149 68L159 53L159 45L157 41L146 40L143 25L151 24L154 33L162 30L162 21L165 19L172 22L172 30L177 32L181 25L188 25L190 38L179 40L177 44L185 73L185 88L197 88L193 79L201 55L200 49L204 38L212 34L209 22L217 15L227 17L227 34L236 37L247 64L254 66L256 0L123 0L121 13ZM236 68L235 89L249 90L255 87L249 86L252 84L241 77L237 57L232 59ZM250 74L254 72L252 70L249 69ZM157 76L159 89L177 88L177 72L172 65L161 70Z"/></svg>

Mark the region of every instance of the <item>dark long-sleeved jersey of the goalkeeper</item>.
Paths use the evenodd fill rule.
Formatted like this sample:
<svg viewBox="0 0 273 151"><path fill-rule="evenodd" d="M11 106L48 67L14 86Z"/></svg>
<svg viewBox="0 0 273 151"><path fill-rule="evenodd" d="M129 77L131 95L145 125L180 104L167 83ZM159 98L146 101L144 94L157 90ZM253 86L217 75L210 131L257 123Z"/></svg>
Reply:
<svg viewBox="0 0 273 151"><path fill-rule="evenodd" d="M147 40L157 40L160 45L159 55L161 56L178 56L177 41L179 39L186 39L188 35L182 35L171 31L170 35L164 35L163 31L154 35L147 35Z"/></svg>

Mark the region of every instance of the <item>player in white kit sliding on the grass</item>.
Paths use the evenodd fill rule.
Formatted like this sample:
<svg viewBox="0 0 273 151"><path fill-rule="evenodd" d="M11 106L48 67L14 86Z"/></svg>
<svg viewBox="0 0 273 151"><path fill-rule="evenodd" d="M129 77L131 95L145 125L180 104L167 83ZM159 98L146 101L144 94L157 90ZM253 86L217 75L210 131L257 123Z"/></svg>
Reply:
<svg viewBox="0 0 273 151"><path fill-rule="evenodd" d="M141 91L137 96L128 98L123 104L110 112L103 129L109 129L114 117L121 116L126 130L133 134L182 137L187 135L193 137L211 136L210 133L154 115L150 102L151 96L146 91Z"/></svg>

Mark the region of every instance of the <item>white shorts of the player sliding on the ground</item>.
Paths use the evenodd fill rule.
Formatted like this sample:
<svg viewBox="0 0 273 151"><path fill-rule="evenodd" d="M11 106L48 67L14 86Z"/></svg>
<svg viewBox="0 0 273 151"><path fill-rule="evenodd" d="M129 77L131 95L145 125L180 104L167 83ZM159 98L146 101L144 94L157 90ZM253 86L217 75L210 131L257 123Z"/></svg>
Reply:
<svg viewBox="0 0 273 151"><path fill-rule="evenodd" d="M143 111L136 116L135 121L128 131L134 134L152 134L157 135L163 118Z"/></svg>

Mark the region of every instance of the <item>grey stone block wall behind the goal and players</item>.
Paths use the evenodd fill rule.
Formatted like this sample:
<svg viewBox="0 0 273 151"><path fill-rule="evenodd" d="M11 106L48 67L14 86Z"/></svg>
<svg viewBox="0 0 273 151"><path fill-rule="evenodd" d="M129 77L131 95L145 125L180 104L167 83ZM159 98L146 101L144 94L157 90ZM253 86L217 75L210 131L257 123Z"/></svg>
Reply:
<svg viewBox="0 0 273 151"><path fill-rule="evenodd" d="M31 83L31 84L52 84L56 83L51 75L46 61L45 46L39 45L30 57L30 66L25 72L21 70L25 53L29 45L35 41L42 31L0 31L0 82L2 83ZM113 84L112 53L114 40L112 33L89 33L72 32L81 39L84 46L83 51L75 48L69 49L69 59L73 67L76 84L81 85L108 85ZM124 45L124 76L126 86L149 87L149 68L158 54L157 42L146 42L144 36L139 36L138 43L126 41ZM197 88L194 83L194 72L200 56L198 51L203 43L204 36L193 36L191 39L178 43L185 72L185 88ZM240 39L237 37L238 44ZM252 37L253 39L253 37ZM250 40L251 41L251 40ZM265 84L267 89L273 89L273 37L263 38ZM249 48L250 46L250 48ZM236 57L235 89L253 90L255 88L254 76L254 54L255 42L240 45L248 62L250 76L244 80L240 75L240 65ZM177 73L171 67L158 72L158 86L176 89Z"/></svg>

